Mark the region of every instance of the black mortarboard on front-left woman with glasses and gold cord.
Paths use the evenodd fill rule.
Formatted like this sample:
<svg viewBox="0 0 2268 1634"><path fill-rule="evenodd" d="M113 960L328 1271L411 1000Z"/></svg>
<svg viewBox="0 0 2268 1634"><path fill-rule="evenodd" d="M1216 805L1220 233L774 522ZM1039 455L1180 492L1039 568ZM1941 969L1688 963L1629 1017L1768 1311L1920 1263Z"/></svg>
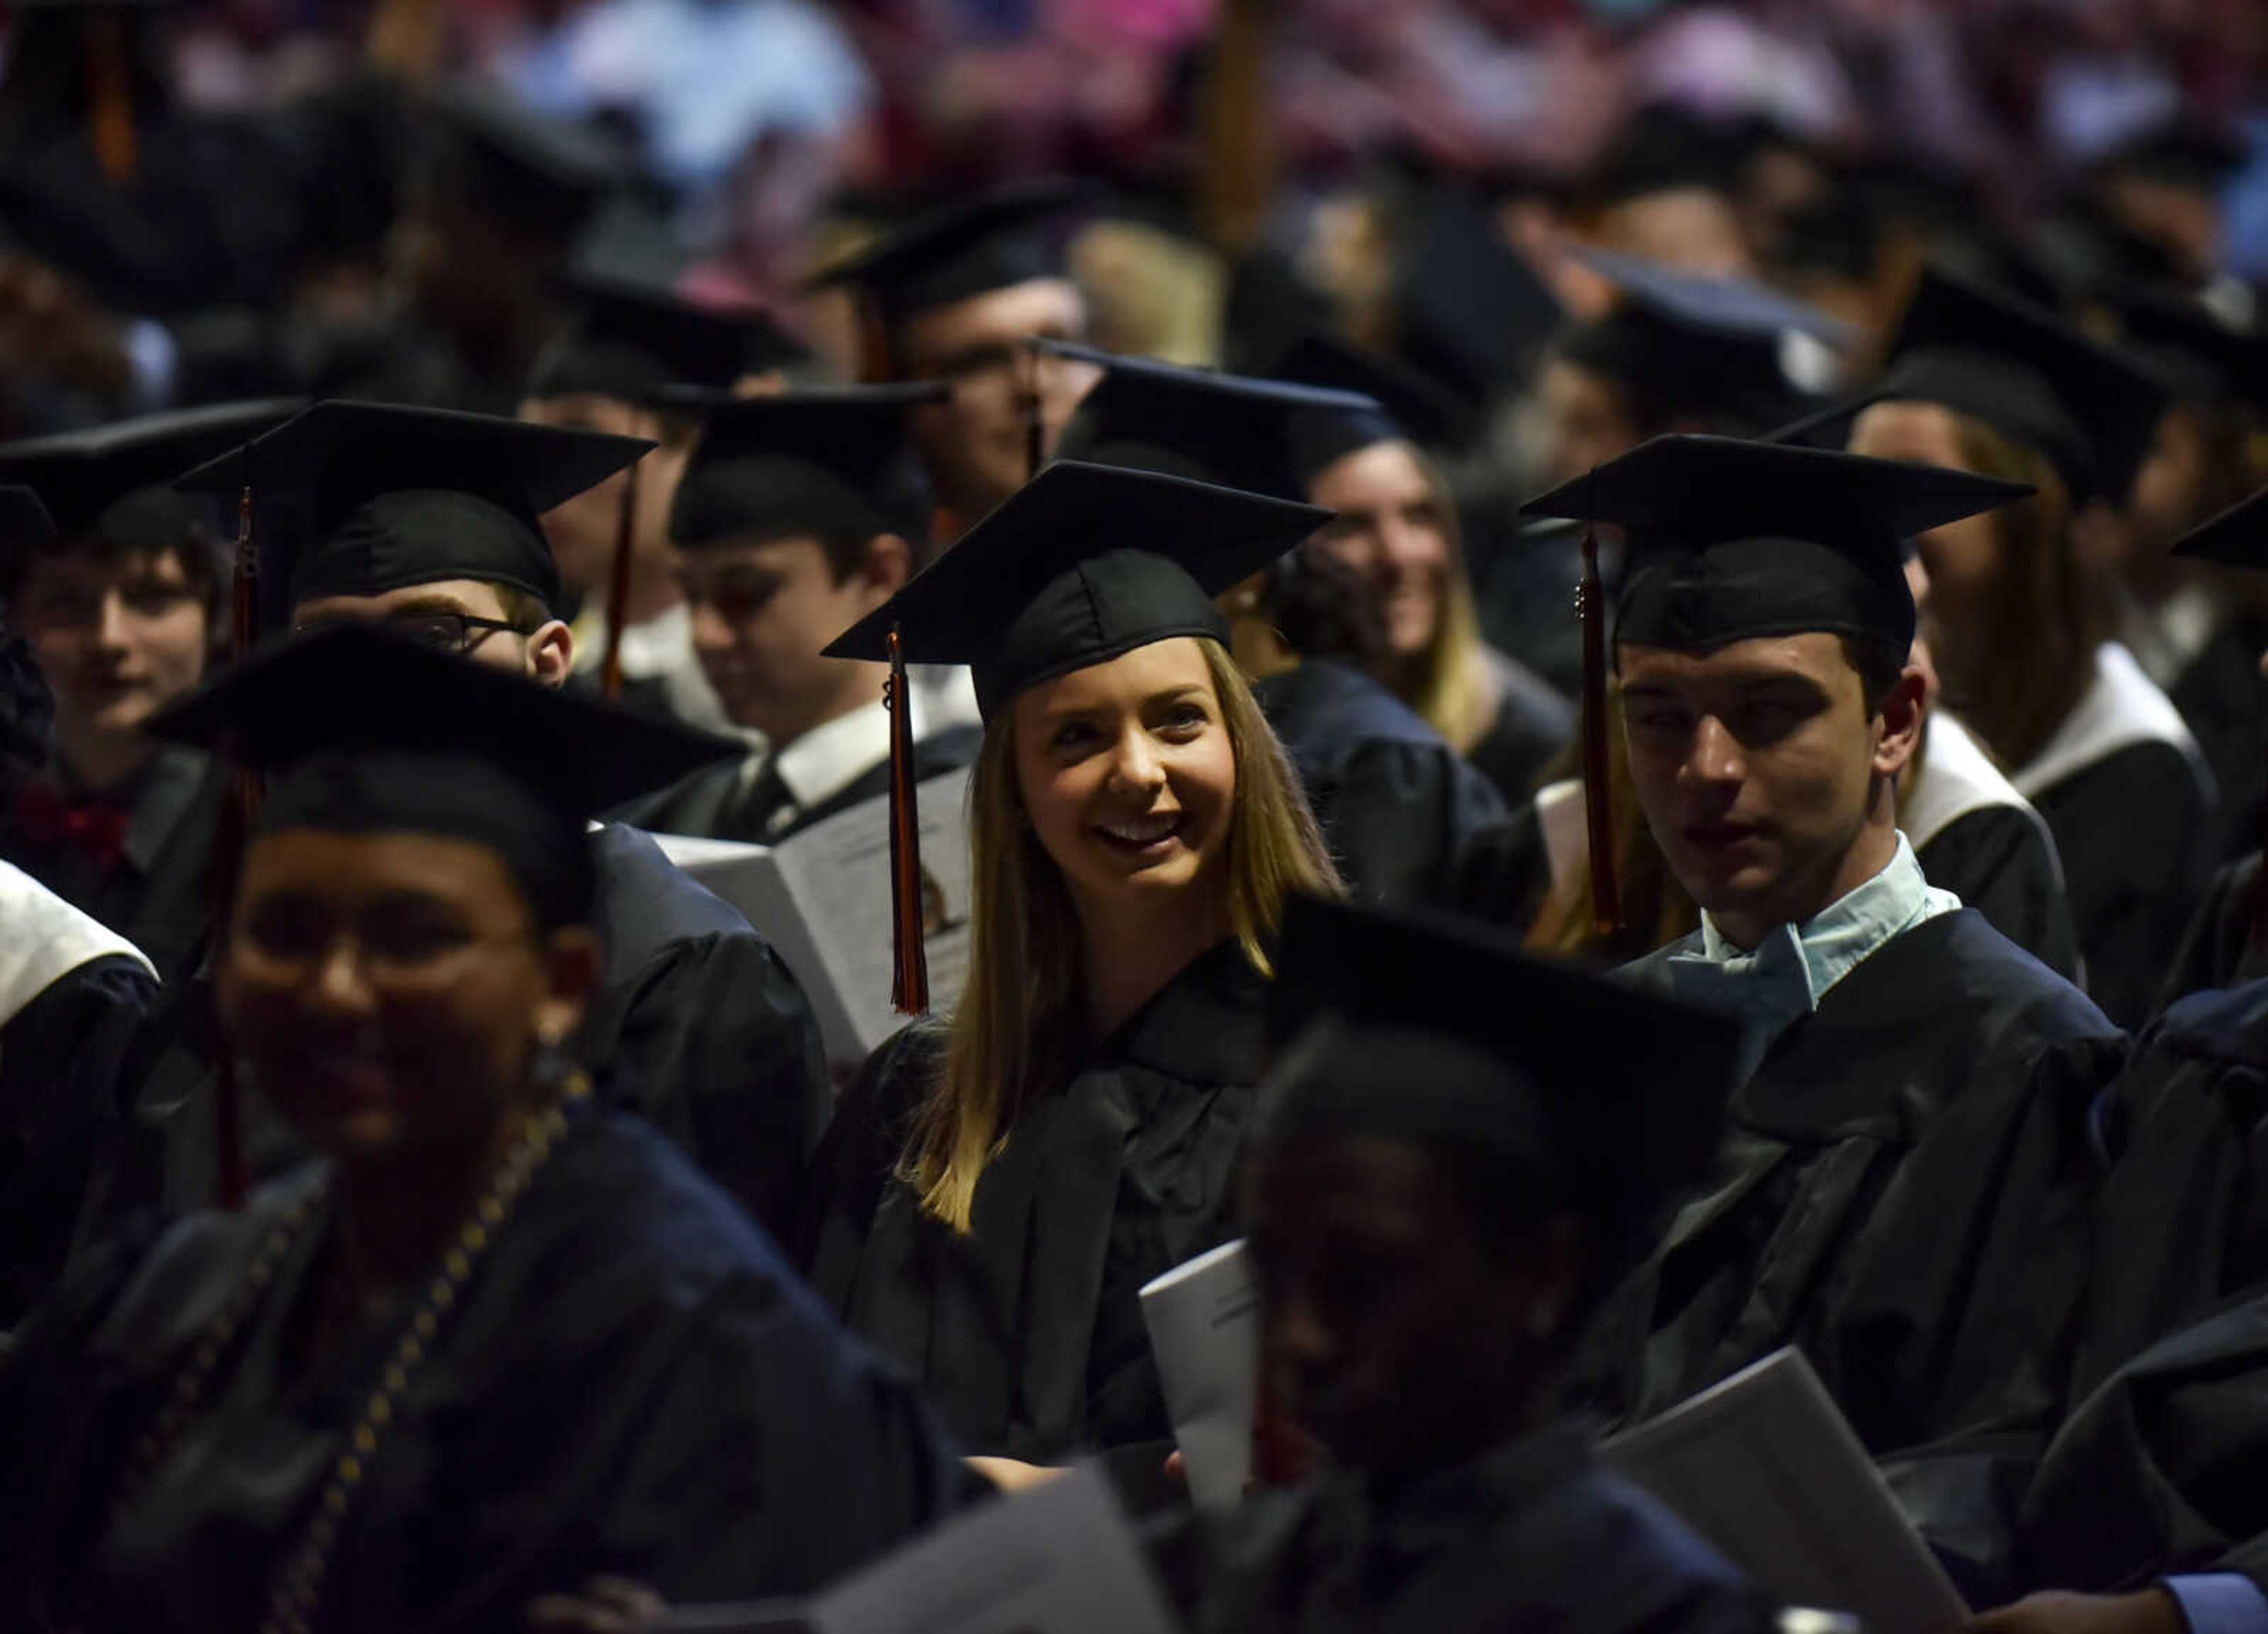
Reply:
<svg viewBox="0 0 2268 1634"><path fill-rule="evenodd" d="M547 922L590 907L592 816L742 752L363 623L277 641L145 730L268 773L263 829L488 845Z"/></svg>

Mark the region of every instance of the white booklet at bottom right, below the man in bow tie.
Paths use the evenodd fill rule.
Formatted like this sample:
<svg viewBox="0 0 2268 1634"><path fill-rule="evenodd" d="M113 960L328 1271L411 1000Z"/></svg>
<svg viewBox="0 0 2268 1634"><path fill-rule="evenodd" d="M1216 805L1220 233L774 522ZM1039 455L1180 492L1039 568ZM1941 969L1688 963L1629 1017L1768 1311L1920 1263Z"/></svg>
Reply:
<svg viewBox="0 0 2268 1634"><path fill-rule="evenodd" d="M1851 1611L1867 1634L1969 1620L1801 1351L1774 1351L1601 1453L1787 1605Z"/></svg>

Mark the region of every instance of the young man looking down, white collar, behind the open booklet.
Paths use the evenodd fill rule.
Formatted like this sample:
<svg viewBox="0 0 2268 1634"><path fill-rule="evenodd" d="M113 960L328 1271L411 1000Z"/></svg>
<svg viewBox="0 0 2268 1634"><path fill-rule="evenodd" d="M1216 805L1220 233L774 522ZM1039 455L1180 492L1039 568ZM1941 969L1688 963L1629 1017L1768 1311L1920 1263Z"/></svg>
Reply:
<svg viewBox="0 0 2268 1634"><path fill-rule="evenodd" d="M889 793L889 666L821 648L914 571L930 487L907 415L939 397L939 385L864 385L708 403L669 535L701 666L762 748L628 820L771 845ZM916 780L975 759L982 730L930 732L921 714L916 696Z"/></svg>

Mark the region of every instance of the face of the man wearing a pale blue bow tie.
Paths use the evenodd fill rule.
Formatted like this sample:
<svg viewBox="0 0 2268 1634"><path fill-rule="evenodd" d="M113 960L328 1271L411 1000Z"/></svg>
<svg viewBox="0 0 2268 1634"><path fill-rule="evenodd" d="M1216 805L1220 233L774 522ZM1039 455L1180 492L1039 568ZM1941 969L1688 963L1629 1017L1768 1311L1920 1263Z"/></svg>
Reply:
<svg viewBox="0 0 2268 1634"><path fill-rule="evenodd" d="M1715 653L1619 648L1631 782L1694 902L1769 929L1826 907L1873 800L1887 727L1826 632Z"/></svg>

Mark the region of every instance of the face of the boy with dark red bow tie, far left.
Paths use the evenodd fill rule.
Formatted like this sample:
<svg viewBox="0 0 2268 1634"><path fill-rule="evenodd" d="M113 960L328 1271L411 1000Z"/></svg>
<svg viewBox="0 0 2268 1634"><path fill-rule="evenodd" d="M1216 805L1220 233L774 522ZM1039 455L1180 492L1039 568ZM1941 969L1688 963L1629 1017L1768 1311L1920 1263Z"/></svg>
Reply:
<svg viewBox="0 0 2268 1634"><path fill-rule="evenodd" d="M14 621L54 687L66 746L138 730L204 675L206 607L172 551L34 555Z"/></svg>

